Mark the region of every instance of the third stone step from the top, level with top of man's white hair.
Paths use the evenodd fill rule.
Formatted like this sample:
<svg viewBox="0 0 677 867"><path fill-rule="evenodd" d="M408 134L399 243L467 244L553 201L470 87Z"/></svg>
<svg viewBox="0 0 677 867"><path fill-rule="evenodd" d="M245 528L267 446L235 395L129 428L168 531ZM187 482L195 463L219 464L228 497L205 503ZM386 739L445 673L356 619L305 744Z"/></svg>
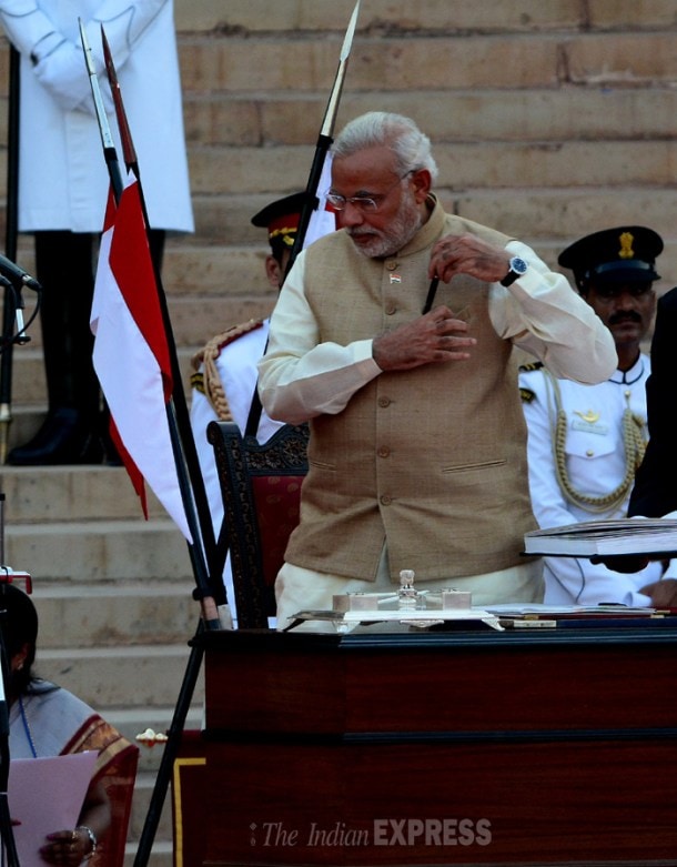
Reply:
<svg viewBox="0 0 677 867"><path fill-rule="evenodd" d="M353 90L348 71L340 123L372 111L374 93ZM307 147L317 137L327 93L261 91L242 94L196 94L184 102L186 129L193 128L201 149L228 145L277 152L279 147ZM615 87L563 83L559 88L462 88L378 91L378 108L415 118L437 142L454 141L599 141L665 139L671 134L670 112L675 93L670 82L638 88L617 82ZM441 108L444 108L441 111ZM191 148L200 164L200 151ZM229 169L232 167L229 167ZM238 165L235 168L239 168ZM267 179L267 175L266 175ZM218 184L249 180L246 191L267 191L256 177L242 179L223 168ZM280 179L277 179L277 183ZM209 194L205 191L205 198ZM212 190L215 192L215 190ZM195 201L198 220L201 202Z"/></svg>

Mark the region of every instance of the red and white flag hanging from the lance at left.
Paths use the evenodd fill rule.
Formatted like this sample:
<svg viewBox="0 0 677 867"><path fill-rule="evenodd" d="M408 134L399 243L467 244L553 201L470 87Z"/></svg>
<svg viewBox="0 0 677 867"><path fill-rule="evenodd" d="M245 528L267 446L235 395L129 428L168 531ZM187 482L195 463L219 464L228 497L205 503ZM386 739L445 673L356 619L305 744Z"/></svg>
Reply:
<svg viewBox="0 0 677 867"><path fill-rule="evenodd" d="M117 209L109 198L90 327L111 435L143 513L148 517L145 482L192 544L168 417L170 350L139 182L131 174Z"/></svg>

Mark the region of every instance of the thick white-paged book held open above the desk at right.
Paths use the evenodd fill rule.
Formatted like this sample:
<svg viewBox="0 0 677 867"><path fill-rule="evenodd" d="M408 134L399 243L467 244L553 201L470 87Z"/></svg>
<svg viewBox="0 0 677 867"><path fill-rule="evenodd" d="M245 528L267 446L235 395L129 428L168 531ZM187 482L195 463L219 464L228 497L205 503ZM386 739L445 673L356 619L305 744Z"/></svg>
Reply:
<svg viewBox="0 0 677 867"><path fill-rule="evenodd" d="M563 557L677 556L677 520L628 517L534 530L524 536L524 553Z"/></svg>

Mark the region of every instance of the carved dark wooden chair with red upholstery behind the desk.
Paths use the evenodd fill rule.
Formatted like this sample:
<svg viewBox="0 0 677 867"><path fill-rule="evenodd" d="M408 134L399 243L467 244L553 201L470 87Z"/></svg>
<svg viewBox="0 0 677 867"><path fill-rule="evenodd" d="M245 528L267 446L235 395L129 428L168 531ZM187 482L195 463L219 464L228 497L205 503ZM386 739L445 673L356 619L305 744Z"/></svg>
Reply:
<svg viewBox="0 0 677 867"><path fill-rule="evenodd" d="M233 422L211 422L206 437L223 496L219 544L230 550L238 627L267 628L267 618L275 615L275 577L299 523L309 430L284 425L260 444L243 437Z"/></svg>

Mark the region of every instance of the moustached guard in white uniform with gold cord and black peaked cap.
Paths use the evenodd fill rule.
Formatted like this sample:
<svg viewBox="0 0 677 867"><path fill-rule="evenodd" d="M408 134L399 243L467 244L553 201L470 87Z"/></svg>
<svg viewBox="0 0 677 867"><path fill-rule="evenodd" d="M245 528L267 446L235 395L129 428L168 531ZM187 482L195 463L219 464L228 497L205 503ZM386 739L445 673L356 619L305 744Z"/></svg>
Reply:
<svg viewBox="0 0 677 867"><path fill-rule="evenodd" d="M625 517L635 471L648 438L645 383L650 373L640 342L656 308L656 232L619 226L583 238L558 262L614 335L618 370L604 383L580 385L552 376L540 364L521 369L528 426L529 488L540 527ZM641 588L664 564L634 574L575 557L545 557L545 602L646 606Z"/></svg>

